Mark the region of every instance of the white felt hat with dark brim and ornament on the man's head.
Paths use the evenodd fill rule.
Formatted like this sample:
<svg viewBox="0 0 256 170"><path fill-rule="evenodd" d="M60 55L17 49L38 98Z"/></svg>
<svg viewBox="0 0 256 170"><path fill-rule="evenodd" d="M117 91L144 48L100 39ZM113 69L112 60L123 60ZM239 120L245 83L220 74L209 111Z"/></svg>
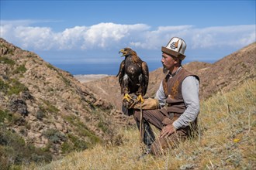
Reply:
<svg viewBox="0 0 256 170"><path fill-rule="evenodd" d="M175 56L178 59L185 59L185 48L186 44L183 39L178 37L173 37L167 44L167 46L162 46L162 52L167 53L171 56Z"/></svg>

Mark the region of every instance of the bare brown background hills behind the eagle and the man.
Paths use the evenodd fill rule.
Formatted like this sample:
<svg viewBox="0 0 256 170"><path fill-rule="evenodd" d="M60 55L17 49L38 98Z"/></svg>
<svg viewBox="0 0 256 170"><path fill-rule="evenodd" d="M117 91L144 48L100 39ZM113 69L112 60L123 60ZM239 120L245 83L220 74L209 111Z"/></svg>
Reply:
<svg viewBox="0 0 256 170"><path fill-rule="evenodd" d="M256 43L223 57L216 63L192 62L184 67L200 77L200 98L205 100L220 90L231 90L244 80L254 78L256 62ZM154 97L161 80L164 78L161 68L150 72L147 97ZM116 76L84 83L102 99L109 100L121 108L122 96Z"/></svg>

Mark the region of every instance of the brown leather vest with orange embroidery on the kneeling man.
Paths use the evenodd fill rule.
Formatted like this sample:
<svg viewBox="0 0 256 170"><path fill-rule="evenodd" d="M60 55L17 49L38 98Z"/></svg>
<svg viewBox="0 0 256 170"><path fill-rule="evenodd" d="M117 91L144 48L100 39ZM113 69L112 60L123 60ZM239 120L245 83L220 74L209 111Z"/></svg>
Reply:
<svg viewBox="0 0 256 170"><path fill-rule="evenodd" d="M185 111L185 103L182 97L182 82L187 76L195 76L199 80L199 76L190 73L182 68L178 70L174 76L168 74L163 80L164 93L167 97L168 112L183 114Z"/></svg>

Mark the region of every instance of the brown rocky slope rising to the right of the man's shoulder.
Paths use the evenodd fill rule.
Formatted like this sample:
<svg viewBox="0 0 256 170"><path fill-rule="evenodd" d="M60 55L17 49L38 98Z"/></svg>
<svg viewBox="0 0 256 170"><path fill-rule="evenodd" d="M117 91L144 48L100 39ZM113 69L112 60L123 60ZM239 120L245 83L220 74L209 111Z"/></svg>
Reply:
<svg viewBox="0 0 256 170"><path fill-rule="evenodd" d="M256 76L256 42L239 51L223 57L212 66L199 70L202 99L211 97L220 90L228 91L244 80Z"/></svg>

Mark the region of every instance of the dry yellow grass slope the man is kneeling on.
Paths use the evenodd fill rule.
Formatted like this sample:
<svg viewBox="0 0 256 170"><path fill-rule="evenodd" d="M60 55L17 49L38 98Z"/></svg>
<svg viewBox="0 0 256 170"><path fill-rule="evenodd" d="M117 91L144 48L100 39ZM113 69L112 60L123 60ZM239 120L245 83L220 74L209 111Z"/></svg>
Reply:
<svg viewBox="0 0 256 170"><path fill-rule="evenodd" d="M256 169L256 83L201 102L199 138L189 139L161 158L140 156L137 129L122 129L124 143L74 152L49 165L24 169Z"/></svg>

